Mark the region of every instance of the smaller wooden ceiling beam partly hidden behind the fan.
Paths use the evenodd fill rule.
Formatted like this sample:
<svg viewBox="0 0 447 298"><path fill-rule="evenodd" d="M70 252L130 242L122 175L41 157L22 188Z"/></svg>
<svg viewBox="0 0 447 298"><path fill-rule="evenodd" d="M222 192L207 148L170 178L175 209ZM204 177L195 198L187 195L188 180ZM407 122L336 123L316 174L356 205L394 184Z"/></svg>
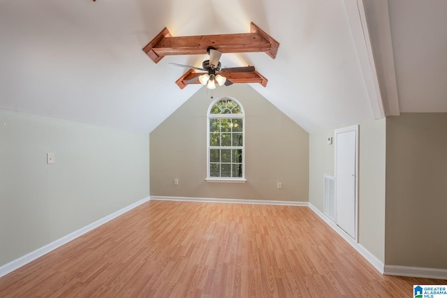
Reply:
<svg viewBox="0 0 447 298"><path fill-rule="evenodd" d="M200 84L199 80L195 80L193 82L190 82L190 80L195 79L199 75L203 75L203 73L196 73L195 70L188 70L182 77L179 77L179 79L175 82L180 89L184 89L188 84ZM230 80L234 84L237 83L259 83L263 87L267 86L268 80L263 77L260 73L257 71L254 71L253 73L221 73L224 77L227 78L227 80Z"/></svg>

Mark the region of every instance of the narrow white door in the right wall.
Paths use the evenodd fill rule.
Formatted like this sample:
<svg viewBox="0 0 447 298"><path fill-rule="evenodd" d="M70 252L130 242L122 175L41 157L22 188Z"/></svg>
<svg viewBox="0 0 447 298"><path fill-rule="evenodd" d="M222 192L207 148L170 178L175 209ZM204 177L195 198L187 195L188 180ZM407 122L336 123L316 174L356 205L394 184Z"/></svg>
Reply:
<svg viewBox="0 0 447 298"><path fill-rule="evenodd" d="M335 131L335 200L337 225L357 239L358 126Z"/></svg>

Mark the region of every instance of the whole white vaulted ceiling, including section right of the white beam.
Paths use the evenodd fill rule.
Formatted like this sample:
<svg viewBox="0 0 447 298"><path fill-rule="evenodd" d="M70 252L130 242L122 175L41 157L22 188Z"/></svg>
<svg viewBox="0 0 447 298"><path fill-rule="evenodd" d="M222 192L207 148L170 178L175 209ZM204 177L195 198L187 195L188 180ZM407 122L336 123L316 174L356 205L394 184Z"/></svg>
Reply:
<svg viewBox="0 0 447 298"><path fill-rule="evenodd" d="M381 89L397 82L401 112L447 112L447 1L388 2L388 27L367 11L372 48L383 30L393 38L395 80L382 78ZM368 92L350 5L358 3L0 0L0 108L149 133L200 88L179 89L185 70L168 63L207 57L154 64L142 48L164 27L173 36L248 33L254 22L279 42L277 58L223 54L223 66L254 65L268 85L252 87L309 132L373 119L381 98ZM374 52L378 69L383 57Z"/></svg>

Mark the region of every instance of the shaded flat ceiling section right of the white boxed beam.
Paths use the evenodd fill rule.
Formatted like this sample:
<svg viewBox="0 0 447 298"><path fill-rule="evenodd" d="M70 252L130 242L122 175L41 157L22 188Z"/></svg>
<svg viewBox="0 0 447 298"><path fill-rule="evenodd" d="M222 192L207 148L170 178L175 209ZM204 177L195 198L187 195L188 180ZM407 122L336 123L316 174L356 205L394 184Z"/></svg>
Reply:
<svg viewBox="0 0 447 298"><path fill-rule="evenodd" d="M447 1L389 8L401 112L447 112Z"/></svg>

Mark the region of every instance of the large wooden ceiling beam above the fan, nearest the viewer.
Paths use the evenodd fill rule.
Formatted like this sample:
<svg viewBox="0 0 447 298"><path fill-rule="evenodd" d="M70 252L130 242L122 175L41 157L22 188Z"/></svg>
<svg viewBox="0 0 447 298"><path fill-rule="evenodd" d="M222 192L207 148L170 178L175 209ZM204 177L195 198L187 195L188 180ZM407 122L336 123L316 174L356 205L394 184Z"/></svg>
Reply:
<svg viewBox="0 0 447 298"><path fill-rule="evenodd" d="M222 53L265 52L274 59L279 43L253 22L250 24L250 31L250 33L173 37L165 28L142 50L155 63L168 55L207 54L208 47L214 47Z"/></svg>

